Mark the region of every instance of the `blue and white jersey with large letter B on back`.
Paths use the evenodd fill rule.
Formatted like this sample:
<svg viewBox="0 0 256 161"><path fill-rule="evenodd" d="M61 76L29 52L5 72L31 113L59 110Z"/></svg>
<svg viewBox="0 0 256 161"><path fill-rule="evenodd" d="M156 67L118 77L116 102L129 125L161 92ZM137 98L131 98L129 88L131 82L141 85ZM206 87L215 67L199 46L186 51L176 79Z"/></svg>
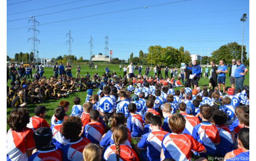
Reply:
<svg viewBox="0 0 256 161"><path fill-rule="evenodd" d="M101 112L112 113L116 110L116 102L110 98L110 96L104 96L100 99L97 109Z"/></svg>

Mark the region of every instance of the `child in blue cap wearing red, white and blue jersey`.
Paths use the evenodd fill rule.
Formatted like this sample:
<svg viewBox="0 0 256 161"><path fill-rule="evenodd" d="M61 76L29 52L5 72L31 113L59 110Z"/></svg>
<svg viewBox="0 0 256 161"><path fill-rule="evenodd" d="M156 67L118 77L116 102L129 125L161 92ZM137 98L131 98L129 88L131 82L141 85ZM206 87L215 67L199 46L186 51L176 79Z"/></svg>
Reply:
<svg viewBox="0 0 256 161"><path fill-rule="evenodd" d="M191 136L192 132L193 132L193 128L196 126L196 124L199 124L200 121L198 119L198 117L194 116L195 113L195 106L193 105L193 103L187 103L186 104L186 125L185 125L185 129L183 131L183 133L189 134Z"/></svg>

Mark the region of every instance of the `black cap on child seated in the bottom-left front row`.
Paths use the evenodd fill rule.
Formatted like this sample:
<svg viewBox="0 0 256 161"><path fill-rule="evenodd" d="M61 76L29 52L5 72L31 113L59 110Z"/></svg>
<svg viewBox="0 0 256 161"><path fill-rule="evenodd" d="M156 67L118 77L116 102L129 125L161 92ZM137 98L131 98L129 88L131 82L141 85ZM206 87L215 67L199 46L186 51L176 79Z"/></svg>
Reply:
<svg viewBox="0 0 256 161"><path fill-rule="evenodd" d="M36 148L48 147L52 142L52 131L48 127L40 127L33 133Z"/></svg>

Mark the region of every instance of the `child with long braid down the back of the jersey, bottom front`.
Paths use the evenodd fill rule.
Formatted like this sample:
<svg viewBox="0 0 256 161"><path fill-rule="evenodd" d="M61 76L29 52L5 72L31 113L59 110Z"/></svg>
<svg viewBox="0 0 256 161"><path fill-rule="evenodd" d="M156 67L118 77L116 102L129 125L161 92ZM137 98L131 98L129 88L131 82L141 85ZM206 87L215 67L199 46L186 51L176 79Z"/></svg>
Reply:
<svg viewBox="0 0 256 161"><path fill-rule="evenodd" d="M131 147L125 144L128 138L127 128L124 125L115 127L113 131L113 139L115 144L111 144L109 147L104 149L103 159L104 160L137 160L136 152Z"/></svg>

